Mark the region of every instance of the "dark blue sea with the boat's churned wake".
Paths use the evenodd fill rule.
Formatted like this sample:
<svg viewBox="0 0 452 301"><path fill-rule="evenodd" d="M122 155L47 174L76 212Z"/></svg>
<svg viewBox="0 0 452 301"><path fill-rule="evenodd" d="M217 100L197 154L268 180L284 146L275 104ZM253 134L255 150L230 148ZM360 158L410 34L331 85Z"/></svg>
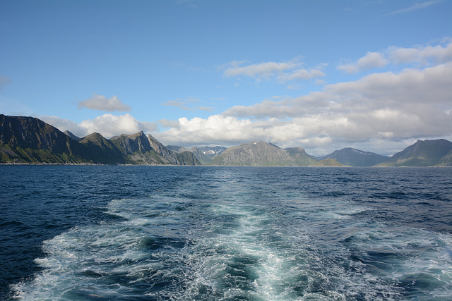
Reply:
<svg viewBox="0 0 452 301"><path fill-rule="evenodd" d="M0 166L1 300L452 300L452 168Z"/></svg>

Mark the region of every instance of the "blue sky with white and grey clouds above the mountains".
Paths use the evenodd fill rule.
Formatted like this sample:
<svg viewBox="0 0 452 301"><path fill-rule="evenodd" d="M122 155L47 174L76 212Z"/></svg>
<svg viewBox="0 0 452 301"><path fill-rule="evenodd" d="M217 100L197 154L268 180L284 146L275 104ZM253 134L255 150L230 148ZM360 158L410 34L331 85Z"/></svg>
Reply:
<svg viewBox="0 0 452 301"><path fill-rule="evenodd" d="M452 140L452 0L0 0L0 113L321 156Z"/></svg>

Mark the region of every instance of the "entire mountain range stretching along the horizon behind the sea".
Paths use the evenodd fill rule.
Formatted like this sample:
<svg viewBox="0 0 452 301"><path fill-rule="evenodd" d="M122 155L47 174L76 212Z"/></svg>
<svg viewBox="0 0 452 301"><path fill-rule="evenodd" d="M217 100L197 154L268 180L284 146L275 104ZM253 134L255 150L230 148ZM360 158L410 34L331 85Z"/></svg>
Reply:
<svg viewBox="0 0 452 301"><path fill-rule="evenodd" d="M452 166L452 142L418 140L393 156L350 147L318 158L263 141L233 147L165 147L143 132L77 137L38 118L0 114L0 163L213 166Z"/></svg>

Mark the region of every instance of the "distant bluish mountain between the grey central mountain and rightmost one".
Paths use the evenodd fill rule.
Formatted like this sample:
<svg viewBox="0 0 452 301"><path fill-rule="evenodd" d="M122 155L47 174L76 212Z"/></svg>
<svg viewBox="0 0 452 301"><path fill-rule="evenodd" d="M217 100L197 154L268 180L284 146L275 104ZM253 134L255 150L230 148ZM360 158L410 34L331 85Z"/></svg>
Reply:
<svg viewBox="0 0 452 301"><path fill-rule="evenodd" d="M321 156L318 159L334 159L339 163L348 166L374 166L388 160L389 157L375 154L374 152L364 152L359 149L346 147L345 149L336 150L326 156Z"/></svg>

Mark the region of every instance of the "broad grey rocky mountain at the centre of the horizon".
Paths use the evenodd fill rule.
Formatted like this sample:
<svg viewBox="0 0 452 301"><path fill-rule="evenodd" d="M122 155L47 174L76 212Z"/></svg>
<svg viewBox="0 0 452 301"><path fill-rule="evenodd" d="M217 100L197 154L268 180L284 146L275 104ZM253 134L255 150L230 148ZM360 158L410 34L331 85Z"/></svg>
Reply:
<svg viewBox="0 0 452 301"><path fill-rule="evenodd" d="M292 154L290 154L292 152ZM304 150L289 152L266 142L251 142L229 147L215 156L209 165L220 166L307 166L314 160Z"/></svg>

